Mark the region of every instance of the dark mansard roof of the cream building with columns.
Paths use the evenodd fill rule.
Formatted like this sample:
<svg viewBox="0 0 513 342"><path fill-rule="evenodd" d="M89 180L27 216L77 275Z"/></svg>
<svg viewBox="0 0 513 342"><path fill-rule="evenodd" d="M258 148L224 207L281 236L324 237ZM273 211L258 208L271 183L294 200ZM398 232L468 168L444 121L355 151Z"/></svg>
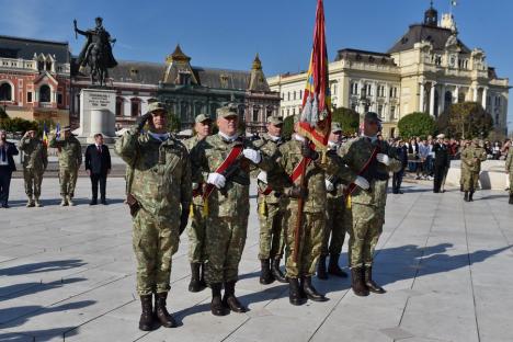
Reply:
<svg viewBox="0 0 513 342"><path fill-rule="evenodd" d="M420 43L422 41L431 42L435 50L443 50L445 48L445 43L447 43L447 39L453 34L453 31L449 29L424 24L413 24L410 25L408 32L387 53L395 54L412 49L415 43ZM470 53L470 49L459 39L458 46L461 48L461 53Z"/></svg>

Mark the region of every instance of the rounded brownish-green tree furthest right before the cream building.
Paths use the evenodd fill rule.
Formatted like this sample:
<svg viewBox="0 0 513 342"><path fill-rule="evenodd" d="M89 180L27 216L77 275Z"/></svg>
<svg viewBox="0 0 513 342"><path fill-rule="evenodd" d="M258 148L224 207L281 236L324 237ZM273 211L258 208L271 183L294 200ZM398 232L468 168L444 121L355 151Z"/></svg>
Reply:
<svg viewBox="0 0 513 342"><path fill-rule="evenodd" d="M477 102L454 103L440 115L437 126L453 138L486 138L493 129L493 117Z"/></svg>

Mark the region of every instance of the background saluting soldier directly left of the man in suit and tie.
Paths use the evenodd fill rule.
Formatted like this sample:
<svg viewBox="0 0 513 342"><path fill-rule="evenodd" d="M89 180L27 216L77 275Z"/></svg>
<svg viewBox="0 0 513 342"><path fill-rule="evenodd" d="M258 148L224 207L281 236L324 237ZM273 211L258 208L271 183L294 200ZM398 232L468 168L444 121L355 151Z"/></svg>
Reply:
<svg viewBox="0 0 513 342"><path fill-rule="evenodd" d="M72 206L78 170L82 164L82 148L69 127L62 128L61 134L62 138L59 140L57 140L56 135L52 136L49 147L59 150L59 182L60 196L62 197L60 205Z"/></svg>

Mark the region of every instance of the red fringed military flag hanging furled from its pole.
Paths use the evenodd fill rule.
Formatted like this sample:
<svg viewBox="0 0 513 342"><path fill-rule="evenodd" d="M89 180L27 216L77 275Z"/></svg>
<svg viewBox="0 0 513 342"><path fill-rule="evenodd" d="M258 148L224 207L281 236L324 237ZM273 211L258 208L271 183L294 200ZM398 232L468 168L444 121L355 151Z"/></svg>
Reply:
<svg viewBox="0 0 513 342"><path fill-rule="evenodd" d="M331 127L331 92L328 76L328 49L324 35L324 5L317 2L314 46L308 68L299 134L326 148Z"/></svg>

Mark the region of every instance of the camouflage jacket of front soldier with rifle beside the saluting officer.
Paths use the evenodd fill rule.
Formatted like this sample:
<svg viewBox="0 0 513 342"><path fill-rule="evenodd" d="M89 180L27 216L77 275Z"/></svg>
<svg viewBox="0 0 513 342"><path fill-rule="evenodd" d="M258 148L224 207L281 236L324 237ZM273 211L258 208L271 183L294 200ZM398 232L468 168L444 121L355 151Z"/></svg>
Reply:
<svg viewBox="0 0 513 342"><path fill-rule="evenodd" d="M233 146L242 144L244 148L256 149L246 139L228 141L219 134L206 137L200 141L192 151L193 182L206 183L208 173L216 172L219 166L228 157ZM270 158L261 155L262 160L258 164L264 171L272 168ZM208 215L213 217L231 217L249 214L249 185L251 162L241 157L235 161L235 172L226 180L225 187L215 189L208 197ZM233 169L232 169L233 170Z"/></svg>

